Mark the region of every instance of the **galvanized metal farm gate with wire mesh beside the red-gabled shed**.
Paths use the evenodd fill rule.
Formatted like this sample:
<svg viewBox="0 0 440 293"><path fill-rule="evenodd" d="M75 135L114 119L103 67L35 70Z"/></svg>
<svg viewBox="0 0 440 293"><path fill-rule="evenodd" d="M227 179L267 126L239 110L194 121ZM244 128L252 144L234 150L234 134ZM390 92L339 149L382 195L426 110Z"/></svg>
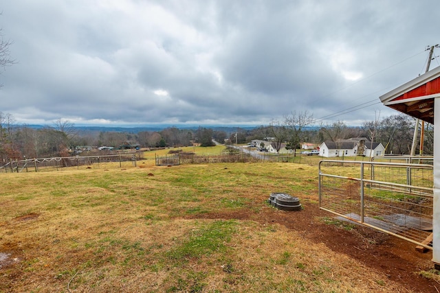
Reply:
<svg viewBox="0 0 440 293"><path fill-rule="evenodd" d="M320 209L432 249L430 164L324 160Z"/></svg>

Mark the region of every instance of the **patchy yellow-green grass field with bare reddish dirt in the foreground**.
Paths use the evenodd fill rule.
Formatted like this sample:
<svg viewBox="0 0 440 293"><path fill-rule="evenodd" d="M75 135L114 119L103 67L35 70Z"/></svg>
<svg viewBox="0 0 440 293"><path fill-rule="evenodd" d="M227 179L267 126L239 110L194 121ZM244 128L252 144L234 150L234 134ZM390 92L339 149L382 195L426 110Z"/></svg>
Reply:
<svg viewBox="0 0 440 293"><path fill-rule="evenodd" d="M146 160L0 182L0 292L440 290L431 253L320 211L313 165Z"/></svg>

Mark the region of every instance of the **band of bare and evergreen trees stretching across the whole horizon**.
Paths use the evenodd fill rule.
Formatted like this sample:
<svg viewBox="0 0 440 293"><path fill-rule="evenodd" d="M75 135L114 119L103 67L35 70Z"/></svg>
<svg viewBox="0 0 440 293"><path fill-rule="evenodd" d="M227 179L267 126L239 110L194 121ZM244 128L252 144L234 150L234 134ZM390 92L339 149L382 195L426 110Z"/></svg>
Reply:
<svg viewBox="0 0 440 293"><path fill-rule="evenodd" d="M323 141L340 141L351 137L367 137L382 143L386 154L410 154L415 119L397 114L377 121L365 121L362 126L347 126L343 121L329 125L312 126L314 119L307 112L291 113L268 126L226 132L211 128L197 129L165 128L160 131L115 132L84 131L75 128L69 121L58 119L53 126L32 128L17 125L12 115L0 112L0 160L72 156L79 145L108 146L119 148L123 144L139 145L140 148L182 147L198 143L201 146L219 143L248 143L253 139L272 138L279 150L298 150L303 142L319 145ZM426 124L423 139L423 154L433 152L433 126ZM419 154L417 144L417 154Z"/></svg>

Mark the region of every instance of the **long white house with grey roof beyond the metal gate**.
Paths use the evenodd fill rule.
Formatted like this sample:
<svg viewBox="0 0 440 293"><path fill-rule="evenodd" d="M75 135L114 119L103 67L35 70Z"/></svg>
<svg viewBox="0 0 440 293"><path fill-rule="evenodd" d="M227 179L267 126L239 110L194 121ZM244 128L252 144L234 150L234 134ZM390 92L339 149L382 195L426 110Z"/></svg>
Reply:
<svg viewBox="0 0 440 293"><path fill-rule="evenodd" d="M325 141L319 147L319 155L334 156L382 156L385 148L382 143L374 143L365 137L355 137L340 141Z"/></svg>

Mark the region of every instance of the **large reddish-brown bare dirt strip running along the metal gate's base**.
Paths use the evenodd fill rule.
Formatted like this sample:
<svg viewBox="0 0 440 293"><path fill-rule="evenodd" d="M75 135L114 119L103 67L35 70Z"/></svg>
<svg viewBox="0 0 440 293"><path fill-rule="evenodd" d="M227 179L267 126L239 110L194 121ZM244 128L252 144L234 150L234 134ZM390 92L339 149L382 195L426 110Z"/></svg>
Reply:
<svg viewBox="0 0 440 293"><path fill-rule="evenodd" d="M322 219L332 218L333 214L320 210L317 204L303 204L303 207L302 211L281 211L267 205L260 213L241 210L234 213L206 213L192 218L281 224L298 231L312 243L324 243L331 250L384 273L388 279L401 283L413 292L439 292L439 283L417 274L420 270L434 268L432 252L419 253L415 250L415 244L364 226L346 230L326 224Z"/></svg>

